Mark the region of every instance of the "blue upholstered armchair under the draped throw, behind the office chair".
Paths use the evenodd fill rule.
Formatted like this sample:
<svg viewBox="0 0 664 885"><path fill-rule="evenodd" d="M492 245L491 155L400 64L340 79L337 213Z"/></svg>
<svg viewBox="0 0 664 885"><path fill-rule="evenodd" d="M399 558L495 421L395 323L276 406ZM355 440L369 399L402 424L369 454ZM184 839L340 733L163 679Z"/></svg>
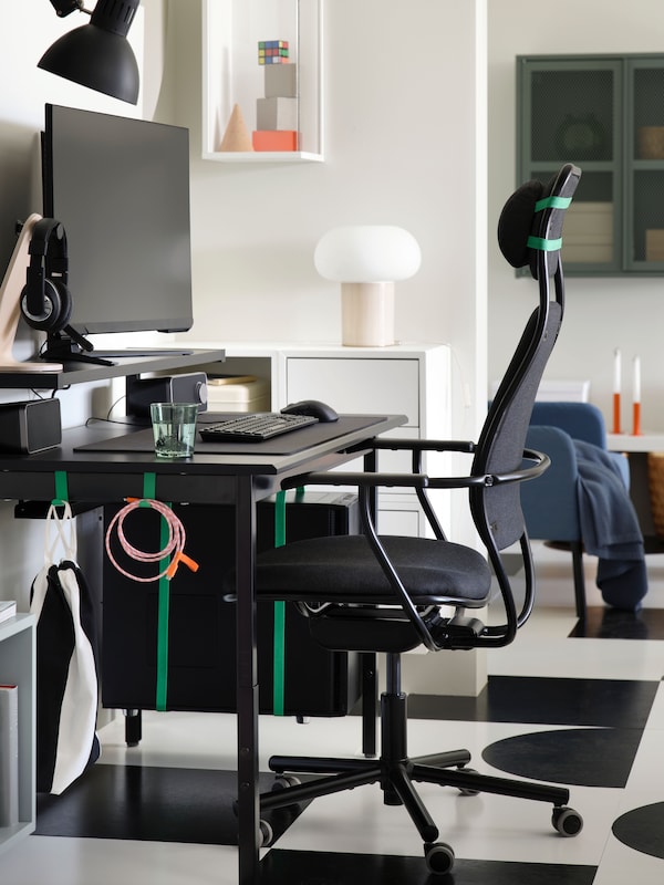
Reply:
<svg viewBox="0 0 664 885"><path fill-rule="evenodd" d="M544 451L551 467L521 487L521 507L531 540L563 543L572 554L577 615L587 616L583 574L583 535L579 508L579 468L573 440L580 439L606 450L606 428L600 409L590 403L536 403L526 445ZM627 460L615 459L625 488L630 487Z"/></svg>

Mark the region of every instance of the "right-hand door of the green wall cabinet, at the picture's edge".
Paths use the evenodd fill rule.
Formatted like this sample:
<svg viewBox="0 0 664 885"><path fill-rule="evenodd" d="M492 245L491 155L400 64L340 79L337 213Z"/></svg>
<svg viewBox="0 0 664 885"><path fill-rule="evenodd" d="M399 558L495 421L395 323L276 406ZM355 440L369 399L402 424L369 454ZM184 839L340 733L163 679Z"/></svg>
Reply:
<svg viewBox="0 0 664 885"><path fill-rule="evenodd" d="M631 114L626 126L625 266L664 270L664 69L661 60L631 60Z"/></svg>

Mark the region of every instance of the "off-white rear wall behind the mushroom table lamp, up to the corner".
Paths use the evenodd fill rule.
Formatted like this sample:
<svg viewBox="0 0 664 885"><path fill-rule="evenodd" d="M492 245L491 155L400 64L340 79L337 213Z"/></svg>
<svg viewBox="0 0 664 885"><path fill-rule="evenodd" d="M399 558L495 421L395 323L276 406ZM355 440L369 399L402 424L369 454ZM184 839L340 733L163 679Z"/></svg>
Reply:
<svg viewBox="0 0 664 885"><path fill-rule="evenodd" d="M325 163L246 166L199 159L191 6L172 3L169 22L176 116L195 155L190 337L339 341L339 289L317 274L315 243L336 225L396 223L423 251L418 274L397 288L397 337L450 342L457 402L463 378L484 404L485 0L326 0ZM473 436L470 409L459 428L464 418Z"/></svg>

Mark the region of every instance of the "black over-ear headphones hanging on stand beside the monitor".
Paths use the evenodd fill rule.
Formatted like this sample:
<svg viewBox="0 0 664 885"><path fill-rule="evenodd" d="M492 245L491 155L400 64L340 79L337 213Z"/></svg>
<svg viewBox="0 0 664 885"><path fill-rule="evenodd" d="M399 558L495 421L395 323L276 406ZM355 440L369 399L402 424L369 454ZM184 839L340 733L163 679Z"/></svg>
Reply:
<svg viewBox="0 0 664 885"><path fill-rule="evenodd" d="M69 331L72 296L66 288L69 261L66 233L54 218L41 218L32 228L21 313L40 332Z"/></svg>

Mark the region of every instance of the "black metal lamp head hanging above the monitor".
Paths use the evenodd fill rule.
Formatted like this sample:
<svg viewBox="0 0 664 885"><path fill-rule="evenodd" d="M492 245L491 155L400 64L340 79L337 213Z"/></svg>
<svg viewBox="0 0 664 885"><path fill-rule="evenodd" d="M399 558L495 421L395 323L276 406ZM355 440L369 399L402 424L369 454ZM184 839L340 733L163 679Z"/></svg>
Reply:
<svg viewBox="0 0 664 885"><path fill-rule="evenodd" d="M83 0L51 0L63 18L79 10L90 23L61 37L38 67L129 104L138 101L138 65L126 40L141 0L98 0L92 12Z"/></svg>

